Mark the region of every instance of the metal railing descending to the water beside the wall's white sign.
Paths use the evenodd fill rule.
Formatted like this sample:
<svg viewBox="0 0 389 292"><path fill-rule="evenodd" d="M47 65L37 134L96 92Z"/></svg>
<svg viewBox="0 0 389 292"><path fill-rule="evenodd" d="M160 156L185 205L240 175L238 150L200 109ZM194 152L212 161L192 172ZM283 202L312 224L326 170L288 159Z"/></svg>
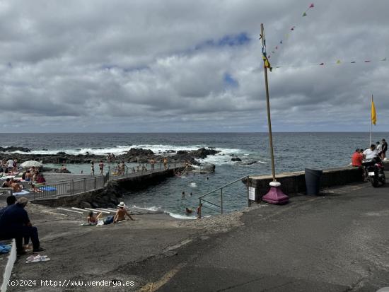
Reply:
<svg viewBox="0 0 389 292"><path fill-rule="evenodd" d="M244 180L248 179L248 177L249 175L240 177L238 180L229 182L228 184L218 187L217 189L214 189L211 192L207 192L207 194L203 194L201 197L199 197L199 214L197 214L197 216L199 218L204 216L204 208L210 210L210 214L223 214L225 209L233 210L234 206L240 206L244 201L247 201L247 206L250 206L247 185L245 185L244 191L236 188L233 189L232 192L226 191L227 187L230 187L237 182L243 182Z"/></svg>

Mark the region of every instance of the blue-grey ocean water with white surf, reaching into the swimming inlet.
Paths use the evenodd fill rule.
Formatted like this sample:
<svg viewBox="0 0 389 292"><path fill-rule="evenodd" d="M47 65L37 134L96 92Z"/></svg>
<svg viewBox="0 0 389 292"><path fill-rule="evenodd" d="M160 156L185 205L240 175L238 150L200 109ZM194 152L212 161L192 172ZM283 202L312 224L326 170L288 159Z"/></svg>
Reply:
<svg viewBox="0 0 389 292"><path fill-rule="evenodd" d="M389 133L373 133L372 141L389 139ZM355 148L367 148L366 132L274 133L276 173L325 169L348 165ZM171 177L161 184L137 192L123 194L129 206L164 211L178 218L194 218L185 214L185 207L195 208L198 197L245 175L271 173L267 133L61 133L61 134L1 134L0 146L23 146L31 153L105 154L125 153L129 148L147 148L154 153L166 150L195 150L214 147L221 151L200 162L214 163L216 171L209 175ZM242 163L233 162L238 156ZM1 158L1 154L0 154ZM255 163L252 163L255 161ZM252 163L247 165L246 163ZM59 165L47 165L57 167ZM66 165L71 172L90 172L90 165ZM185 196L182 196L185 192ZM225 211L245 206L242 183L231 185L223 193ZM192 193L192 195L191 195ZM217 199L219 193L215 194ZM209 208L209 214L214 211Z"/></svg>

